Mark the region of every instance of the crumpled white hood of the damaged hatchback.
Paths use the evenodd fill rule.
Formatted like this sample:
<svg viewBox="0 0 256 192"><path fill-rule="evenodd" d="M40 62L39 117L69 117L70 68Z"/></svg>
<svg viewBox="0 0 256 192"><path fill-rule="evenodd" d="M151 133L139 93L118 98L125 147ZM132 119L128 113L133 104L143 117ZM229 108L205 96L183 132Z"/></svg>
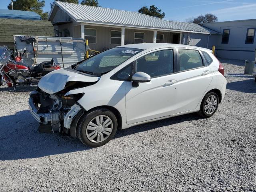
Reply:
<svg viewBox="0 0 256 192"><path fill-rule="evenodd" d="M78 72L71 68L62 68L43 76L38 87L46 93L53 94L63 90L69 81L96 82L99 79L98 76Z"/></svg>

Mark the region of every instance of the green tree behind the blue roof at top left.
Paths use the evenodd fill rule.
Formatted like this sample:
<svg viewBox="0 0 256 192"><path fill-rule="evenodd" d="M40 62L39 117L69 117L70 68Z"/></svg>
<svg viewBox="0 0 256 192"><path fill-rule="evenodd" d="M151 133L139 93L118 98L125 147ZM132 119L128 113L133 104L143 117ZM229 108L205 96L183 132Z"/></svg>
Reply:
<svg viewBox="0 0 256 192"><path fill-rule="evenodd" d="M47 20L48 12L43 12L44 0L13 0L13 9L22 11L34 11L38 13L43 20ZM11 4L8 9L12 9Z"/></svg>

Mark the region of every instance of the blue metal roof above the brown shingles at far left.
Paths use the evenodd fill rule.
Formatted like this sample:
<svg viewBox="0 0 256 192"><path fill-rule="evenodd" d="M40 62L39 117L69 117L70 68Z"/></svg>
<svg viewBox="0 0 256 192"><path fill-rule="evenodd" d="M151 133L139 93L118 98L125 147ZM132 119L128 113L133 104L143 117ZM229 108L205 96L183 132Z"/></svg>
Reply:
<svg viewBox="0 0 256 192"><path fill-rule="evenodd" d="M0 9L0 18L41 20L41 16L33 11L9 9Z"/></svg>

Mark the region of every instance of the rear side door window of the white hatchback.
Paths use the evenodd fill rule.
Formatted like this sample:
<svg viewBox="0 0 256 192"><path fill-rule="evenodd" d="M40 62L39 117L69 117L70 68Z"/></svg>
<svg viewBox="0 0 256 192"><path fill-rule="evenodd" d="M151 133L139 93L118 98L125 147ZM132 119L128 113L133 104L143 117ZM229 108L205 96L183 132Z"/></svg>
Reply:
<svg viewBox="0 0 256 192"><path fill-rule="evenodd" d="M179 49L180 71L203 67L203 61L197 50Z"/></svg>

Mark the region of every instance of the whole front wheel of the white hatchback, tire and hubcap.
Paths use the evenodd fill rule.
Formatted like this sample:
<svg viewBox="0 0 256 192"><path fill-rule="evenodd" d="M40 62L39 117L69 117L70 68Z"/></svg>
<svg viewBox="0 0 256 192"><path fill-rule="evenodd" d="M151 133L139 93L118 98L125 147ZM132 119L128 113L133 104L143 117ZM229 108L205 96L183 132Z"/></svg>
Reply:
<svg viewBox="0 0 256 192"><path fill-rule="evenodd" d="M116 116L106 108L85 114L77 127L80 141L90 147L99 147L109 142L117 130Z"/></svg>

